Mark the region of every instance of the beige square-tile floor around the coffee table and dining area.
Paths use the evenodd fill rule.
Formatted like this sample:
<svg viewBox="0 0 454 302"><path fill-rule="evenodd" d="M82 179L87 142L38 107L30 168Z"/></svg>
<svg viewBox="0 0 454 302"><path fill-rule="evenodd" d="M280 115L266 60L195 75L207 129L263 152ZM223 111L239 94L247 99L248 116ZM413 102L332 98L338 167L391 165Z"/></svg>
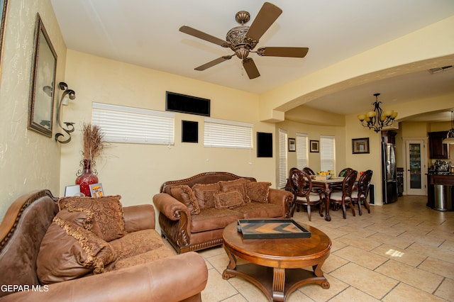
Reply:
<svg viewBox="0 0 454 302"><path fill-rule="evenodd" d="M301 286L287 301L454 301L454 212L427 208L425 196L371 206L362 216L356 210L347 219L331 211L330 222L316 211L311 222L306 212L295 212L294 220L331 238L331 255L322 267L331 287ZM222 279L228 264L222 247L199 253L209 269L204 302L267 301L248 281Z"/></svg>

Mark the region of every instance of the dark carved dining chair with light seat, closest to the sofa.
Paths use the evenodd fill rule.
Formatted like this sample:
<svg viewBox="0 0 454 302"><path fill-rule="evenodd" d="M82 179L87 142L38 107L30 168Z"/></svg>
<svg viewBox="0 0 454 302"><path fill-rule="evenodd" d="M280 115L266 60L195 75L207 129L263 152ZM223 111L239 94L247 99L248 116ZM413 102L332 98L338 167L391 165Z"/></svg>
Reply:
<svg viewBox="0 0 454 302"><path fill-rule="evenodd" d="M321 193L314 193L312 191L312 180L309 174L299 169L292 171L290 174L290 185L292 186L292 191L294 192L293 205L292 205L292 217L295 211L295 207L298 205L303 205L307 207L307 215L309 216L309 221L311 221L311 206L315 206L323 202ZM323 217L321 213L323 206L319 206L319 214Z"/></svg>

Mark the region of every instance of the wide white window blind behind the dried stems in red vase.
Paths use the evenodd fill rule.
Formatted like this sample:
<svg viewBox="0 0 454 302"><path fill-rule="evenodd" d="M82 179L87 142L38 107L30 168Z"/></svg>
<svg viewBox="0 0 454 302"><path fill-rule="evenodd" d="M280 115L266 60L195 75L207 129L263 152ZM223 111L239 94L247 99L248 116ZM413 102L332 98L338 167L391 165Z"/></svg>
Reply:
<svg viewBox="0 0 454 302"><path fill-rule="evenodd" d="M92 104L92 123L108 142L172 145L175 113L111 104Z"/></svg>

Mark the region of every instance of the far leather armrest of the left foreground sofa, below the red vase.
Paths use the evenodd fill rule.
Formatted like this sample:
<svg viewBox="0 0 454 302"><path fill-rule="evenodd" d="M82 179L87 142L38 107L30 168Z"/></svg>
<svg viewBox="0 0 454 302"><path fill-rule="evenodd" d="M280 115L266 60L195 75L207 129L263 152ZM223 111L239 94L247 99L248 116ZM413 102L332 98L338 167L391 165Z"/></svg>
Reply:
<svg viewBox="0 0 454 302"><path fill-rule="evenodd" d="M125 213L125 229L128 233L155 228L155 208L151 204L125 206L123 213Z"/></svg>

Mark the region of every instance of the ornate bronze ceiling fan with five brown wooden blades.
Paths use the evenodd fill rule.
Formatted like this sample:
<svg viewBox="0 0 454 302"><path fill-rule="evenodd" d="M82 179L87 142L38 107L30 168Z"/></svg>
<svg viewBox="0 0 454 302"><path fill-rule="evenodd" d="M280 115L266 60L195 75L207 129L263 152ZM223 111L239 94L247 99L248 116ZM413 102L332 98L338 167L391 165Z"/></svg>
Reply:
<svg viewBox="0 0 454 302"><path fill-rule="evenodd" d="M257 55L265 57L305 57L309 51L309 48L307 47L260 47L258 50L253 51L260 38L262 38L262 35L270 28L272 23L276 21L281 13L282 9L279 9L279 7L274 4L265 2L252 25L245 26L244 24L248 23L250 20L250 14L247 11L238 11L235 19L241 25L228 30L226 40L221 40L189 26L182 26L179 28L179 31L222 47L228 47L235 52L233 55L218 57L216 60L196 67L195 70L202 71L208 69L221 62L230 60L236 55L243 61L243 67L248 74L249 79L255 79L256 77L260 77L260 72L258 72L254 60L251 57L248 57L250 52L255 52Z"/></svg>

